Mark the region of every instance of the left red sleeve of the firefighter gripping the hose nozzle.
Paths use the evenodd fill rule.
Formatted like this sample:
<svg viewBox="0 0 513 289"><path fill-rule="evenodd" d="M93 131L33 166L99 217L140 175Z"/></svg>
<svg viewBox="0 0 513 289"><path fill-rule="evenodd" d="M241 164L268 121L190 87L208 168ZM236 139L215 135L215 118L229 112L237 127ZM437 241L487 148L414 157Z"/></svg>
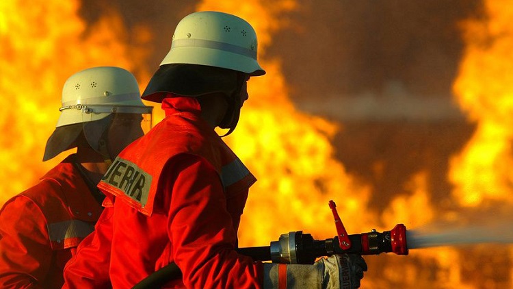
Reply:
<svg viewBox="0 0 513 289"><path fill-rule="evenodd" d="M94 231L80 242L77 254L64 268L62 288L111 288L109 279L114 208L105 208Z"/></svg>

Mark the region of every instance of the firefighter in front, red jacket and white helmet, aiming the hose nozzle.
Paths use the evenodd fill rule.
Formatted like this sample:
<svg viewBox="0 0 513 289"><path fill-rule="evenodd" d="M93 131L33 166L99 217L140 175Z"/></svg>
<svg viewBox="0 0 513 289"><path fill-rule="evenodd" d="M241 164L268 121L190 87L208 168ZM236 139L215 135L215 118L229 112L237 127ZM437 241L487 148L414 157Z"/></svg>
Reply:
<svg viewBox="0 0 513 289"><path fill-rule="evenodd" d="M243 19L206 11L179 22L142 97L161 103L166 118L124 149L98 184L106 208L66 265L63 288L132 288L171 262L183 278L166 288L273 287L283 272L282 288L358 288L367 270L360 256L278 268L235 251L256 179L214 129L235 129L247 81L264 74L257 36Z"/></svg>

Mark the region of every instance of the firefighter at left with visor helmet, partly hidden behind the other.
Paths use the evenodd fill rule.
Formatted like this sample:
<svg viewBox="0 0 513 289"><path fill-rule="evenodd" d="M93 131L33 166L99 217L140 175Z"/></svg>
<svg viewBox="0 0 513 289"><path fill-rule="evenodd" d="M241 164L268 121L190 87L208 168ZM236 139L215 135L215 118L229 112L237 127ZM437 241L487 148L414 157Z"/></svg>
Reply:
<svg viewBox="0 0 513 289"><path fill-rule="evenodd" d="M98 181L111 160L143 135L142 125L151 125L152 109L123 68L88 68L66 80L43 161L77 152L1 208L0 288L62 287L64 265L101 214L105 196Z"/></svg>

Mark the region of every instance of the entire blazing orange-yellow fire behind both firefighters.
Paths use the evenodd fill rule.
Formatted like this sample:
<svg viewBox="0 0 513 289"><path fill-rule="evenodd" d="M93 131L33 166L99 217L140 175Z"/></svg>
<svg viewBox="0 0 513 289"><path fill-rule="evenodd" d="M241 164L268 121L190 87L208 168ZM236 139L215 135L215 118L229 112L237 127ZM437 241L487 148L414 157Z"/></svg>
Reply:
<svg viewBox="0 0 513 289"><path fill-rule="evenodd" d="M513 31L508 26L512 12L503 9L507 6L503 2L486 3L488 21L466 23L468 47L455 91L477 130L451 160L456 205L449 212L438 212L431 203L426 171L404 184L411 193L398 192L403 197L393 199L383 212L371 209L369 201L379 196L334 158L331 141L337 124L295 109L280 60L267 58L265 51L272 45L273 33L287 25L278 21L280 15L298 9L296 1L205 0L197 5L197 10L223 11L248 20L259 35L261 64L267 71L264 77L250 80L250 100L237 130L226 138L259 179L241 221L240 245L265 246L280 234L297 230L317 239L332 238L336 231L330 199L337 203L350 234L389 230L397 223L414 229L440 219L454 221L463 218L458 215L460 208L477 212L503 203L502 210L508 210L513 202L509 166L513 92L508 86L513 82L508 74L513 71L513 60L508 62ZM88 24L78 16L79 6L79 0L0 3L0 205L62 160L40 161L69 75L90 66L122 66L133 71L144 87L149 71L155 69L146 64L153 38L146 27L131 32L137 38L127 45L128 32L118 12L108 11ZM156 112L159 121L161 112L158 108ZM412 250L408 256L366 256L369 272L362 288L505 288L511 284L513 253L500 254L504 251L439 247ZM491 268L492 264L504 268Z"/></svg>

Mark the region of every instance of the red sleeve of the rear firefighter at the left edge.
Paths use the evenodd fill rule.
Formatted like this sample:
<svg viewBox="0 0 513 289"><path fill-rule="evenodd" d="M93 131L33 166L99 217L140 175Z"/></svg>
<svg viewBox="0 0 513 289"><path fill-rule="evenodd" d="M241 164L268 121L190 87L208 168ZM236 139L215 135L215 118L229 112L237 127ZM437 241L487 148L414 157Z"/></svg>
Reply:
<svg viewBox="0 0 513 289"><path fill-rule="evenodd" d="M29 198L17 196L0 211L0 288L40 288L52 260L46 221Z"/></svg>

